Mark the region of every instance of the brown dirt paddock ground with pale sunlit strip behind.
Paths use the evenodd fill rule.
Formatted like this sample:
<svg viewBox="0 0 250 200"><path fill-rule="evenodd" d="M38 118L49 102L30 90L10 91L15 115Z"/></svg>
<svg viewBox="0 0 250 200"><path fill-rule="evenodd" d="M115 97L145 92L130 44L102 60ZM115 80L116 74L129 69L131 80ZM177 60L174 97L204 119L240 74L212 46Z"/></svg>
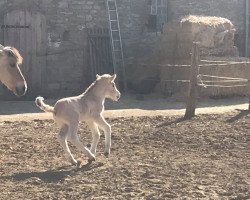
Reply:
<svg viewBox="0 0 250 200"><path fill-rule="evenodd" d="M246 99L241 103L204 102L192 120L182 119L181 103L168 110L117 105L105 113L113 132L110 157L102 154L101 137L96 162L81 169L64 159L49 116L2 103L0 199L250 199L250 114ZM79 134L85 145L91 142L84 123Z"/></svg>

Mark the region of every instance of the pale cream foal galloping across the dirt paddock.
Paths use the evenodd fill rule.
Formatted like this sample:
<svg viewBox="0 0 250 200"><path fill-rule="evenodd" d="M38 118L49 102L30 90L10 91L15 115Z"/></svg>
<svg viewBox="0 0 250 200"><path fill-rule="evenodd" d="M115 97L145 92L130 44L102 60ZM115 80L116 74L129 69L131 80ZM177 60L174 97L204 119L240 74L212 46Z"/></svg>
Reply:
<svg viewBox="0 0 250 200"><path fill-rule="evenodd" d="M111 127L103 118L104 101L110 98L118 101L120 92L115 85L116 75L104 74L96 75L96 80L87 88L87 90L74 97L60 99L55 106L49 106L44 103L43 97L36 98L36 105L45 112L53 113L55 122L60 127L58 140L65 151L66 158L72 164L79 164L72 156L67 140L72 142L80 151L82 151L89 159L89 162L95 160L96 147L100 139L98 127L105 134L105 151L104 154L110 154L111 147ZM85 121L92 132L92 144L90 150L83 146L80 142L77 130L79 122Z"/></svg>

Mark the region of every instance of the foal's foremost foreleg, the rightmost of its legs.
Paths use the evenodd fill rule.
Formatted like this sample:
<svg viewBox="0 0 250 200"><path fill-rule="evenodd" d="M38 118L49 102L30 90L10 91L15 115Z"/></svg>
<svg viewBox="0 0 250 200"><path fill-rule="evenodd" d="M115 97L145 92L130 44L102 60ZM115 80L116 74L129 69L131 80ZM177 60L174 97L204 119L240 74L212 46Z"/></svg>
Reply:
<svg viewBox="0 0 250 200"><path fill-rule="evenodd" d="M110 154L110 148L111 148L111 126L108 124L108 122L106 122L103 116L99 116L98 118L96 118L96 123L104 131L105 134L104 155L108 156Z"/></svg>

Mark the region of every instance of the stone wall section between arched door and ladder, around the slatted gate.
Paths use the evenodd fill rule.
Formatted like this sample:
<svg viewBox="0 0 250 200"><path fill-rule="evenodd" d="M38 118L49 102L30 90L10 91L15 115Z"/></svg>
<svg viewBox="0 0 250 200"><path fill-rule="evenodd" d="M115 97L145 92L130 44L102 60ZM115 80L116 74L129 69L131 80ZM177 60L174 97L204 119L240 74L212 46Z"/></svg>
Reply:
<svg viewBox="0 0 250 200"><path fill-rule="evenodd" d="M45 95L73 95L83 91L91 81L86 28L108 27L105 1L4 0L0 1L0 24L4 14L15 9L39 12L46 17L46 52L39 55L46 59Z"/></svg>

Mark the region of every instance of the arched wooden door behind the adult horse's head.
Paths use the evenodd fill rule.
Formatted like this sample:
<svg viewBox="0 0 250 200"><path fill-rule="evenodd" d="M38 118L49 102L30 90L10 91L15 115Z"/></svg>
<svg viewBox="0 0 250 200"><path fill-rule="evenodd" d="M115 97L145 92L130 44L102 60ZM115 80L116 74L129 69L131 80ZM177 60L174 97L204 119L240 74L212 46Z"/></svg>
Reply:
<svg viewBox="0 0 250 200"><path fill-rule="evenodd" d="M21 70L28 83L26 97L41 94L46 84L46 59L39 57L46 50L45 17L38 12L13 10L4 15L1 31L3 45L16 47L23 56ZM8 94L4 90L4 96Z"/></svg>

